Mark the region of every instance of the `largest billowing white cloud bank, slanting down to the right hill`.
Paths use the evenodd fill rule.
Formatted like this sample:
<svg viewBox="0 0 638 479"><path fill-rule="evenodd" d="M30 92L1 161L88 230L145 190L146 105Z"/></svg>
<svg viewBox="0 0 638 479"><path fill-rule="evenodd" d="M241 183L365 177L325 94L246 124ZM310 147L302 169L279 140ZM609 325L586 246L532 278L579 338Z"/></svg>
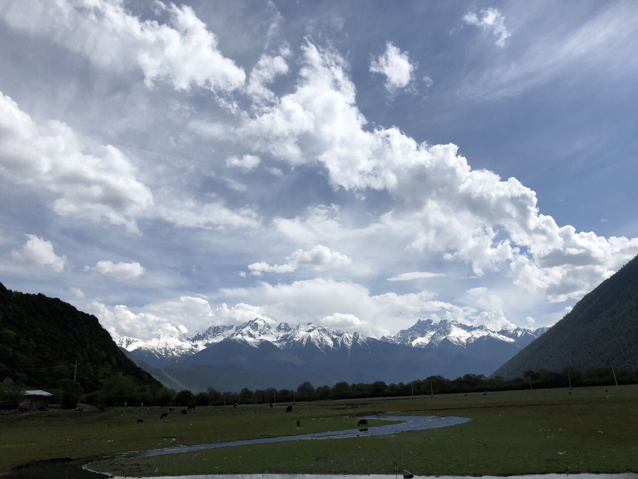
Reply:
<svg viewBox="0 0 638 479"><path fill-rule="evenodd" d="M479 276L509 265L514 284L556 301L580 298L638 254L638 238L560 227L540 213L533 190L516 178L472 170L454 144L419 144L394 126L368 130L343 58L310 42L302 50L295 91L244 118L235 134L290 165L322 165L335 188L387 190L397 207L367 231L410 232L409 248L441 252ZM320 219L325 231L344 234L338 221ZM304 241L322 235L285 218L274 224Z"/></svg>

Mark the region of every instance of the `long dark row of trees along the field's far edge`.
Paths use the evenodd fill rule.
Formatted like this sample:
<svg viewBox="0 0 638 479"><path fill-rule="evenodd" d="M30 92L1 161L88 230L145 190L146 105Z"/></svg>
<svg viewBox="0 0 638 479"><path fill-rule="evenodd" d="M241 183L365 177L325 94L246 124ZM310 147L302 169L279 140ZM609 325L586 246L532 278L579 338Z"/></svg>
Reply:
<svg viewBox="0 0 638 479"><path fill-rule="evenodd" d="M157 387L155 384L139 386L130 377L115 375L105 381L100 390L84 392L82 384L71 379L61 379L57 388L52 388L52 404L66 408L76 407L79 402L95 406L233 406L237 404L276 404L278 402L313 401L332 399L365 399L371 397L399 397L410 395L434 395L470 392L495 392L523 389L569 388L585 386L614 386L615 384L638 383L638 370L600 367L580 371L565 369L552 372L546 369L528 370L522 377L505 380L502 377L486 377L482 374L466 374L456 379L429 376L410 383L352 383L346 381L332 386L318 386L306 381L297 389L243 388L239 392L219 392L209 388L205 392L179 392ZM22 399L22 389L10 378L0 382L0 405L17 407Z"/></svg>

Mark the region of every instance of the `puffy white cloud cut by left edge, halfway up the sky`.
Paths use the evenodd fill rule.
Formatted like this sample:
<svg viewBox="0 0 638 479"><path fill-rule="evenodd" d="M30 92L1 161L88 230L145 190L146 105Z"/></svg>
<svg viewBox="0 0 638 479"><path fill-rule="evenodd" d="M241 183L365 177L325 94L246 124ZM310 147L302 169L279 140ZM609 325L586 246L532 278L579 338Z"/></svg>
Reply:
<svg viewBox="0 0 638 479"><path fill-rule="evenodd" d="M13 181L57 196L58 215L107 219L137 230L152 206L149 188L114 146L96 146L59 121L36 124L0 92L0 171Z"/></svg>

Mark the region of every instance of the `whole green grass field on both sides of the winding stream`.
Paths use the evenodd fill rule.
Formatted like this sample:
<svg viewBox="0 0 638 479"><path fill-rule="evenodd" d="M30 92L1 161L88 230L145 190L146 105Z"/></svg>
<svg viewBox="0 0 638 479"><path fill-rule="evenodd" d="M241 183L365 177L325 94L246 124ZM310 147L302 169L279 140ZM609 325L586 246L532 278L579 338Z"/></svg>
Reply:
<svg viewBox="0 0 638 479"><path fill-rule="evenodd" d="M638 471L638 386L399 399L197 408L159 420L161 409L38 413L0 418L0 471L34 459L89 457L198 443L352 429L357 416L463 416L441 429L390 436L292 441L112 460L92 468L120 475L202 473L515 475ZM137 418L144 419L138 424ZM301 429L295 421L301 421ZM385 422L384 422L385 423ZM370 426L375 426L371 422ZM154 473L155 469L158 473Z"/></svg>

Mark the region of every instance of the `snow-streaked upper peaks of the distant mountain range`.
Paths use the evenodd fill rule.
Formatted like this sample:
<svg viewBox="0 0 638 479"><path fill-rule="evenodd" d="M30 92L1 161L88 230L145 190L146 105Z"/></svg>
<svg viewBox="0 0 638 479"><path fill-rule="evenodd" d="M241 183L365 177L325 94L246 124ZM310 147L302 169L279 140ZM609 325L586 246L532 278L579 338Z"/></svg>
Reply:
<svg viewBox="0 0 638 479"><path fill-rule="evenodd" d="M242 365L256 361L256 358L261 357L260 354L269 351L269 357L279 355L279 360L288 354L285 360L287 363L301 360L309 367L317 364L331 364L334 367L339 361L352 361L352 354L363 358L372 354L373 350L379 350L382 347L380 343L387 343L463 354L470 358L487 360L490 364L494 363L494 367L498 367L544 330L546 328L535 331L524 328L492 331L485 326L468 326L457 321L444 320L434 323L431 319L420 319L407 330L401 330L396 335L377 340L356 332L340 331L312 323L299 324L294 328L288 323L279 323L276 328L272 328L267 321L257 317L238 326L211 326L205 331L195 331L179 338L166 335L145 341L121 337L116 342L118 346L152 366L182 363L186 358L189 358L186 361L188 364L212 365L223 357L223 355L220 356L221 351L226 351L226 355L235 354L233 357L239 357L236 351L246 351L232 346L235 344L244 348L259 349L259 352L253 353L246 351L248 356L241 353L241 360L237 359L235 362ZM383 349L383 354L394 354L385 349L387 348ZM206 354L203 356L198 354L204 350L207 351ZM276 351L285 354L281 356ZM367 353L364 354L364 351ZM191 356L196 354L197 358L191 360Z"/></svg>

